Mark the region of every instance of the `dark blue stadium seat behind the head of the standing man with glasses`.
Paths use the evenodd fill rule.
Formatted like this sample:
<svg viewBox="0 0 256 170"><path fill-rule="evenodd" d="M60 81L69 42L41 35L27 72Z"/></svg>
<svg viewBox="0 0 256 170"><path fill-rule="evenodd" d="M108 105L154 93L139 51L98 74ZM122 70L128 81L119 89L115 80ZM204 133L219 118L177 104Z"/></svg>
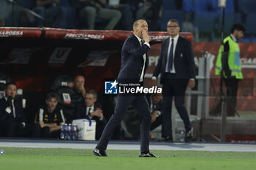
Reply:
<svg viewBox="0 0 256 170"><path fill-rule="evenodd" d="M182 24L184 12L181 10L163 10L161 20L161 31L166 31L167 22L170 19L178 20L178 23Z"/></svg>

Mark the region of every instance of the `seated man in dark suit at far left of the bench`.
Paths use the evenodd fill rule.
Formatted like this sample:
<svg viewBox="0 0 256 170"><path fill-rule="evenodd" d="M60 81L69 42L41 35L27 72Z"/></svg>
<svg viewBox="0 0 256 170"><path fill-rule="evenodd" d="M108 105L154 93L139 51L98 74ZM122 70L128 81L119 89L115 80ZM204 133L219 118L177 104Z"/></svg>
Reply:
<svg viewBox="0 0 256 170"><path fill-rule="evenodd" d="M9 82L0 99L0 135L7 137L39 137L39 126L26 124L22 100L17 98L17 86Z"/></svg>

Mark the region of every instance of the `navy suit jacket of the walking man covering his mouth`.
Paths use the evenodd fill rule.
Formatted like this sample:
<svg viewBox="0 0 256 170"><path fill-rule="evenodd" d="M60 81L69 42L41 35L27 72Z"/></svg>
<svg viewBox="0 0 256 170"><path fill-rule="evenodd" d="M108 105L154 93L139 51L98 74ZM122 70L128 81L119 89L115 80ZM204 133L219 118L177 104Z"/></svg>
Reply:
<svg viewBox="0 0 256 170"><path fill-rule="evenodd" d="M118 74L118 82L140 82L144 64L143 55L146 53L145 75L148 67L147 51L149 49L147 45L140 46L140 42L134 34L128 36L121 50L121 69Z"/></svg>

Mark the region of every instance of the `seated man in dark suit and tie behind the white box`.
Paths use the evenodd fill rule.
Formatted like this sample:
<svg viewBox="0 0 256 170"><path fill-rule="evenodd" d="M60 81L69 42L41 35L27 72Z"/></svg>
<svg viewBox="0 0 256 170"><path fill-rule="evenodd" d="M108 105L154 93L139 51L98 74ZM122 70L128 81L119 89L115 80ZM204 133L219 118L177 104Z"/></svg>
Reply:
<svg viewBox="0 0 256 170"><path fill-rule="evenodd" d="M97 101L97 93L89 90L86 93L85 101L75 106L75 119L91 119L96 121L96 139L102 135L107 120L103 116L102 106Z"/></svg>

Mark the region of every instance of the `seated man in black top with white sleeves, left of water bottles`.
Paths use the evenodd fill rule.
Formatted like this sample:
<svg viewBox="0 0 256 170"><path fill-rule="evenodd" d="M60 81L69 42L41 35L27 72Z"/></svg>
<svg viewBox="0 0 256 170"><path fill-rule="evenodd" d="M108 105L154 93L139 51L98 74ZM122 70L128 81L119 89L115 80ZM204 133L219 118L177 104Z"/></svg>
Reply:
<svg viewBox="0 0 256 170"><path fill-rule="evenodd" d="M59 138L61 124L65 123L62 109L59 107L59 96L56 93L46 95L45 104L39 108L37 121L41 126L42 138Z"/></svg>

